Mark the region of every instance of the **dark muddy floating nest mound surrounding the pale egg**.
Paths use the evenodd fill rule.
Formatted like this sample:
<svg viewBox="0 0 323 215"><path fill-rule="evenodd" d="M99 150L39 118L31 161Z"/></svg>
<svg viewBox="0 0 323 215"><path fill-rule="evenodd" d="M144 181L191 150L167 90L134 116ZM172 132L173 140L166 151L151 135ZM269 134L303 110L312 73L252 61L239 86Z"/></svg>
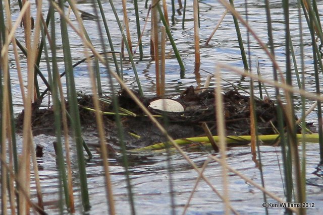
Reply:
<svg viewBox="0 0 323 215"><path fill-rule="evenodd" d="M193 87L187 88L177 98L172 98L181 103L184 112L165 112L149 108L150 102L159 98L140 98L141 102L153 115L158 115L158 121L163 124L169 134L174 138L187 138L193 136L205 136L202 124L206 123L212 135L217 135L216 96L213 89L207 89L196 93ZM224 117L227 135L250 135L250 98L241 95L237 91L230 90L223 95ZM113 113L113 104L106 102L109 97L100 99L100 108L104 112L103 122L106 131L106 140L113 144L118 143L117 126ZM144 147L165 141L165 136L143 114L136 103L125 91L118 95L121 109L127 110L121 116L124 130L124 139L128 147ZM52 107L39 108L41 101L33 104L32 129L34 135L40 133L55 134L54 115ZM91 95L80 95L78 98L81 125L86 135L97 135L95 111ZM68 108L68 103L67 103ZM129 114L129 112L131 114ZM255 113L259 134L275 134L277 115L274 102L270 99L256 100ZM17 117L17 129L22 129L24 112ZM86 137L85 137L86 139Z"/></svg>

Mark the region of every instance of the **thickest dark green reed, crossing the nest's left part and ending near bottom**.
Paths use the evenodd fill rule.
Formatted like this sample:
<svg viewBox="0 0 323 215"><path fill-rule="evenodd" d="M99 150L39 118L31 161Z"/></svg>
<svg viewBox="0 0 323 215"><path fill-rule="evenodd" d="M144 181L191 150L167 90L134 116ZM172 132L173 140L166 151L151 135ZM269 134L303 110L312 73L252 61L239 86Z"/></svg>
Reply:
<svg viewBox="0 0 323 215"><path fill-rule="evenodd" d="M59 5L61 10L64 12L64 8L65 8L64 1L60 0ZM66 71L67 94L68 94L68 101L70 105L70 112L72 116L71 125L72 125L72 130L74 131L73 133L74 133L74 138L76 142L77 163L79 167L82 205L84 210L87 211L90 209L90 203L89 203L85 161L84 161L83 147L82 147L83 139L82 139L82 132L81 132L81 122L80 122L79 109L78 109L78 103L77 103L77 95L75 90L69 35L67 31L67 24L66 24L65 18L62 15L61 15L61 34L62 34L62 43L63 43L64 64L65 64L65 71Z"/></svg>

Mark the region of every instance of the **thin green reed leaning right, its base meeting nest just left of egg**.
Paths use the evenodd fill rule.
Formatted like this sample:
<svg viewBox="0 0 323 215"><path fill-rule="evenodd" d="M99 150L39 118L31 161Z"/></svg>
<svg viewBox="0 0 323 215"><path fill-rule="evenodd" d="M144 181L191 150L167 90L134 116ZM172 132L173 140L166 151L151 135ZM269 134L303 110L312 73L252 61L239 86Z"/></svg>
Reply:
<svg viewBox="0 0 323 215"><path fill-rule="evenodd" d="M128 44L128 41L127 41L127 38L123 32L123 28L122 28L122 24L120 22L120 19L118 17L118 14L117 14L117 11L116 11L116 8L113 4L113 1L112 0L109 0L109 3L110 3L110 6L112 8L112 11L115 15L115 18L116 18L116 21L118 23L118 26L119 26L119 29L120 29L120 32L121 32L121 35L122 35L122 38L124 40L124 43L125 43L125 46L127 48L127 52L128 52L128 55L129 55L129 60L131 62L131 65L132 65L132 69L133 69L133 72L135 74L135 78L136 78L136 82L137 82L137 86L138 86L138 90L139 90L139 95L140 96L143 96L143 93L142 93L142 89L141 89L141 85L140 85L140 80L139 80L139 76L138 76L138 73L137 73L137 69L136 69L136 64L135 62L133 61L133 55L131 53L131 50L130 50L130 47L129 47L129 44Z"/></svg>

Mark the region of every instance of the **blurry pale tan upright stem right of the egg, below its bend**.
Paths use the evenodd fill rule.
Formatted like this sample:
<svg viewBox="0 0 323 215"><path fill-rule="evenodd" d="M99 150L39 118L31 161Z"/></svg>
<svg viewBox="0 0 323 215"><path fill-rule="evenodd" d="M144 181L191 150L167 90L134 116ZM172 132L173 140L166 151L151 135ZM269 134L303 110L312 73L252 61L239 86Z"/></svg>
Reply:
<svg viewBox="0 0 323 215"><path fill-rule="evenodd" d="M226 131L225 131L225 119L224 119L224 103L222 97L222 86L221 86L221 71L216 69L217 88L214 90L216 95L216 115L217 115L217 127L219 135L219 150L220 150L220 164L222 165L222 183L223 183L223 197L224 197L224 211L225 214L229 214L230 200L228 191L228 173L227 173L227 143L226 143Z"/></svg>

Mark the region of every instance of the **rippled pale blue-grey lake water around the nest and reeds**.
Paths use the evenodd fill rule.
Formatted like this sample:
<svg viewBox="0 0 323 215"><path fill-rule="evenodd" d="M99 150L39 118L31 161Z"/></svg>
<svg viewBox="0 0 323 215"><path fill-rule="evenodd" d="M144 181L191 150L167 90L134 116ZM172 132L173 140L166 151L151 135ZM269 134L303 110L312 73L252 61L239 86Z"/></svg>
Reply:
<svg viewBox="0 0 323 215"><path fill-rule="evenodd" d="M235 6L239 12L245 15L244 8L245 1L235 1ZM13 3L13 5L16 3ZM106 12L109 28L113 36L115 48L120 51L121 37L118 26L115 19L112 16L112 11L109 2L103 2L103 8ZM122 18L122 6L121 1L114 1L117 8L118 15ZM144 9L144 2L139 1L139 13L141 17L141 27L144 25L147 9ZM236 39L236 33L231 14L227 14L220 28L213 36L209 45L203 45L214 26L218 23L222 13L224 12L223 6L216 1L200 1L200 40L201 40L201 65L200 70L194 73L194 42L193 42L193 21L192 21L192 1L187 2L187 12L185 28L181 29L181 16L175 16L175 24L171 26L172 35L175 39L176 45L181 53L182 60L185 64L186 71L181 74L179 65L171 45L167 44L168 59L166 61L166 92L168 94L178 94L185 88L193 85L194 87L202 87L204 81L209 74L213 74L216 65L219 63L225 63L239 68L243 68L240 50ZM318 10L323 10L323 2L318 1ZM79 1L78 7L88 13L93 13L91 4L85 1ZM132 39L134 46L136 44L136 31L135 31L135 17L133 10L133 2L128 1L127 8L129 11L129 20L132 33ZM168 3L168 10L171 13L171 3ZM45 11L45 10L44 10ZM274 29L274 39L276 56L278 63L282 66L284 71L285 62L285 34L283 24L283 10L281 1L271 1L271 12ZM18 14L18 11L13 11L14 15ZM260 39L267 42L267 30L266 30L266 17L265 9L262 1L248 1L248 13L249 24L252 29L258 34ZM291 35L294 43L294 49L296 55L299 56L299 30L298 30L298 17L297 17L297 1L290 1L290 18L291 18ZM109 14L109 16L107 16ZM75 18L71 16L73 22L76 22ZM306 21L303 18L303 26L306 26ZM93 20L84 20L84 25L89 32L89 36L94 46L100 50L100 41L97 33L96 23ZM147 26L150 23L148 22ZM58 34L59 28L58 29ZM241 26L242 36L246 41L246 30ZM305 41L305 70L306 80L308 85L306 90L314 92L314 69L311 57L311 44L310 34L308 30L304 29L304 41ZM23 36L23 31L18 31L18 36ZM83 47L77 35L70 29L70 43L73 50L72 56L75 62L81 60L83 55ZM250 37L250 55L252 62L252 70L256 71L256 57L259 58L260 72L263 77L272 79L272 63L268 60L264 51L259 47L256 41ZM154 84L154 62L150 61L149 56L149 32L145 32L143 36L144 47L144 59L138 61L138 56L135 56L136 68L138 75L143 86L144 94L151 95L155 91ZM58 41L60 44L60 41ZM107 44L107 42L106 42ZM245 43L245 48L247 48ZM59 57L62 62L60 68L63 70L63 52L62 46L58 45ZM138 51L137 51L138 52ZM23 66L24 64L22 64ZM40 68L45 71L45 63L40 65ZM127 84L136 89L136 83L134 79L133 70L129 61L124 61L124 78ZM15 65L12 64L12 69ZM109 94L110 86L107 82L106 71L101 67L101 78L103 83L103 91ZM240 79L239 75L234 74L233 71L224 70L223 78L230 82L235 82ZM22 110L21 95L18 85L18 78L15 75L12 76L12 80L16 88L14 91L14 103L16 105L15 112L19 113ZM91 93L91 86L88 79L88 72L86 64L80 64L75 68L75 81L77 88L84 93ZM39 80L40 82L40 80ZM230 89L231 86L223 82L225 89ZM116 84L117 86L117 84ZM211 87L214 86L214 79L212 79ZM242 86L248 89L249 82L243 82ZM40 86L44 89L44 86ZM268 92L274 98L274 90L268 88ZM46 102L44 102L46 103ZM306 106L309 107L313 102L308 101ZM296 114L299 100L296 100ZM313 121L315 123L316 113L315 111L309 115L307 121ZM55 152L53 150L51 142L55 140L55 137L48 135L35 136L35 142L44 146L44 156L38 159L39 174L41 177L42 192L44 196L45 209L49 214L59 213L58 209L58 172L56 169ZM96 143L97 138L95 136L85 137L90 143ZM18 144L21 146L21 137L18 135ZM114 143L110 143L114 145ZM71 146L73 148L73 145ZM93 151L93 159L87 163L87 176L88 187L90 194L91 209L88 214L106 214L108 211L107 200L105 193L105 182L103 177L103 168L101 166L100 156L96 153L95 148L91 148ZM284 198L283 190L283 173L282 173L282 158L280 147L262 146L261 162L263 165L263 175L265 180L265 187L277 196ZM73 150L72 150L73 152ZM201 167L208 156L216 155L210 150L202 152L187 152L188 156ZM76 156L72 154L72 157ZM130 173L131 184L133 185L134 201L137 214L171 214L171 201L170 201L170 189L169 189L169 172L167 164L166 154L149 153L146 155L132 155L130 157ZM306 165L307 172L306 178L309 180L309 184L306 188L307 202L315 203L315 207L308 208L308 214L319 214L319 209L323 207L322 190L323 182L321 182L320 174L313 174L317 169L319 163L319 146L318 144L306 145ZM190 192L196 182L198 174L187 163L187 161L178 153L174 153L170 157L170 163L172 166L172 182L173 182L173 194L175 198L175 211L177 214L181 214L184 205L190 195ZM74 174L76 172L76 158L72 159L73 166L75 167ZM75 163L74 163L75 162ZM110 170L112 174L112 185L114 191L114 199L116 210L118 214L130 214L130 206L127 196L126 179L124 176L124 167L119 159L110 159ZM238 170L242 174L246 175L255 183L261 184L259 169L255 167L255 163L251 159L249 147L235 147L228 151L228 164L230 167ZM217 162L211 162L205 169L204 176L209 179L212 185L223 192L222 185L222 168ZM321 172L319 172L321 173ZM262 192L249 183L245 182L238 176L229 173L229 197L230 204L241 214L263 214L265 212L262 207L263 196ZM74 192L76 198L77 214L82 213L80 205L80 192L78 188L78 181L74 181ZM34 184L32 184L34 188ZM33 192L34 200L35 193ZM275 203L276 201L267 197L268 202ZM223 214L224 205L222 200L212 191L212 189L203 181L200 181L197 186L193 199L187 210L187 214ZM284 208L273 207L268 208L270 214L283 214ZM67 211L66 211L67 212Z"/></svg>

